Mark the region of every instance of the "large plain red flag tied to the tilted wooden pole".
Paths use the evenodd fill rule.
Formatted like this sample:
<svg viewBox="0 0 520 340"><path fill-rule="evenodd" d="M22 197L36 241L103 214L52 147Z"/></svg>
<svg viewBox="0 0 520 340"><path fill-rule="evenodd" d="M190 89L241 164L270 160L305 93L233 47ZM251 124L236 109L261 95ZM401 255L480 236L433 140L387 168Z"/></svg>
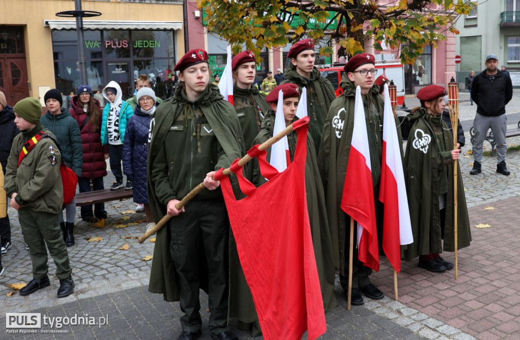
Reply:
<svg viewBox="0 0 520 340"><path fill-rule="evenodd" d="M243 177L237 161L231 170L247 197L236 200L229 179L218 171L229 221L253 296L264 339L315 339L327 330L305 194L305 158L309 118L295 123L293 162L283 172L258 156L268 182L256 188Z"/></svg>

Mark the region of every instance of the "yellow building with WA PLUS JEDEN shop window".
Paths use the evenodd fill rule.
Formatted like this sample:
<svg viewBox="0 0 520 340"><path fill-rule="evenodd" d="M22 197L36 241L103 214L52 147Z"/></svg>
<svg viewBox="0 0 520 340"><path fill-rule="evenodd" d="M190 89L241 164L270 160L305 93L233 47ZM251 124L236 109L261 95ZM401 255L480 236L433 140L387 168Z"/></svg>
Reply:
<svg viewBox="0 0 520 340"><path fill-rule="evenodd" d="M18 0L0 11L0 91L9 105L49 89L75 93L80 85L71 0ZM94 91L111 80L123 96L134 93L141 73L167 78L184 55L183 2L180 0L82 0L82 9L101 12L84 19L87 83ZM43 103L42 103L43 104Z"/></svg>

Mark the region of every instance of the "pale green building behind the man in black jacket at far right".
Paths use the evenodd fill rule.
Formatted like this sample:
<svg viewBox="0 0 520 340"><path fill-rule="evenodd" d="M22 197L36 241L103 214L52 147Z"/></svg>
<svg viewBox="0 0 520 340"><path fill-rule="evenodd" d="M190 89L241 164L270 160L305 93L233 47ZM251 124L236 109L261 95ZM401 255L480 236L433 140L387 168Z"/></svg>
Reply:
<svg viewBox="0 0 520 340"><path fill-rule="evenodd" d="M488 54L496 54L500 66L510 72L513 87L520 87L520 0L481 2L457 22L457 54L462 57L459 83L473 70L486 67Z"/></svg>

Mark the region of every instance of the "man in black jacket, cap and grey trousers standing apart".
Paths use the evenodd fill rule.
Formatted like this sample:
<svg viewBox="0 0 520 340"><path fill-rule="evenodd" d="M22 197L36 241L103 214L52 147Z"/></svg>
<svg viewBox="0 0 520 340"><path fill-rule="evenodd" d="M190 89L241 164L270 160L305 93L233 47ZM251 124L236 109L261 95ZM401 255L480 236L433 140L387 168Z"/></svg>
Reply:
<svg viewBox="0 0 520 340"><path fill-rule="evenodd" d="M477 113L473 121L475 129L475 142L473 143L473 155L475 161L470 174L476 175L482 172L482 146L487 131L491 128L497 142L497 172L509 175L505 167L505 129L508 118L505 116L505 105L513 97L513 84L511 78L498 70L498 57L490 54L486 57L486 69L473 80L471 97L477 104Z"/></svg>

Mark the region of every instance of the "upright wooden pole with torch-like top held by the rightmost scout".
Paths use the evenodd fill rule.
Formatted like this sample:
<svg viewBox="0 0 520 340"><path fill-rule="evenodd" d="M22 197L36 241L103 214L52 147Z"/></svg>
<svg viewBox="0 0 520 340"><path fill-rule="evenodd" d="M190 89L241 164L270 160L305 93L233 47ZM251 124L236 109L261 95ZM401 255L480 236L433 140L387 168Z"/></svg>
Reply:
<svg viewBox="0 0 520 340"><path fill-rule="evenodd" d="M453 149L457 149L457 129L459 126L459 84L451 78L448 83L448 107L451 121L451 129L453 131ZM454 246L455 246L455 280L459 278L459 256L457 252L458 241L458 199L457 199L457 160L453 161L453 229L454 229Z"/></svg>

